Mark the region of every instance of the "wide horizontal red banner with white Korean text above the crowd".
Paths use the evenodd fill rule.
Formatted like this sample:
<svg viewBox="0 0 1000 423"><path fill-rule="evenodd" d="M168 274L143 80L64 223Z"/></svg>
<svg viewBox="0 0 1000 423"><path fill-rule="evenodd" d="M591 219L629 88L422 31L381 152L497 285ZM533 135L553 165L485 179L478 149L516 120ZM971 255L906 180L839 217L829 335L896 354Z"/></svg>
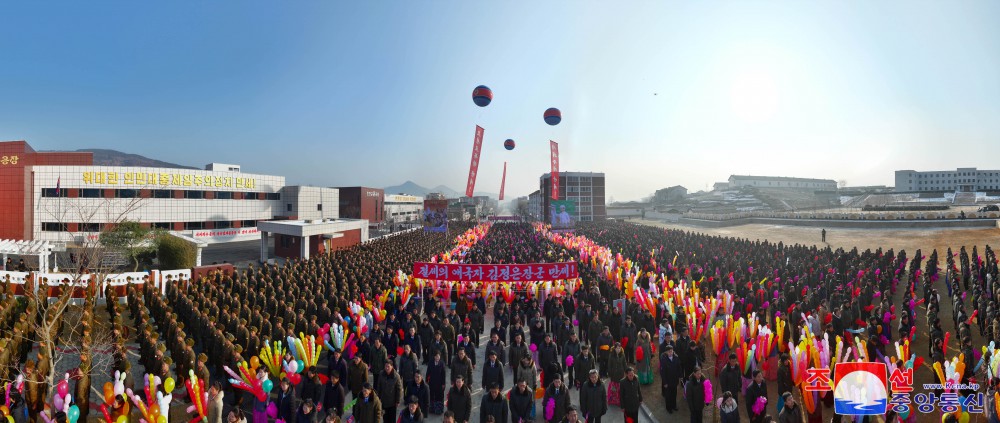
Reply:
<svg viewBox="0 0 1000 423"><path fill-rule="evenodd" d="M417 279L459 282L532 282L576 279L576 262L534 264L413 263Z"/></svg>

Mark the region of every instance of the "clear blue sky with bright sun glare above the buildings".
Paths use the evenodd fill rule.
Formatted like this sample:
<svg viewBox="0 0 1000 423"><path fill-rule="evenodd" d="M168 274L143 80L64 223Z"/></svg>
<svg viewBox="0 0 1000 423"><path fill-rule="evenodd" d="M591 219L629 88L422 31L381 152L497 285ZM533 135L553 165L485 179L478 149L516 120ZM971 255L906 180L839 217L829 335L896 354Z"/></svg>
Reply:
<svg viewBox="0 0 1000 423"><path fill-rule="evenodd" d="M998 17L996 1L6 2L0 139L461 190L480 124L477 189L498 191L506 160L508 196L537 189L549 139L619 200L733 173L891 185L1000 168Z"/></svg>

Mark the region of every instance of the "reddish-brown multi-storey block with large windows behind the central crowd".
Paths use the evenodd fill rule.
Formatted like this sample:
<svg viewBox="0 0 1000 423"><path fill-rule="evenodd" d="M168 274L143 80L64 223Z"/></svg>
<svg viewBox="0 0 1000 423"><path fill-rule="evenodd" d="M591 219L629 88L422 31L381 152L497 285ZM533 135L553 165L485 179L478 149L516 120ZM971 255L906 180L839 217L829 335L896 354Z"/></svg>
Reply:
<svg viewBox="0 0 1000 423"><path fill-rule="evenodd" d="M552 199L551 173L539 178L539 217L550 214ZM604 220L608 211L604 201L604 173L559 172L559 199L576 202L576 212L580 221ZM531 201L529 196L529 202Z"/></svg>

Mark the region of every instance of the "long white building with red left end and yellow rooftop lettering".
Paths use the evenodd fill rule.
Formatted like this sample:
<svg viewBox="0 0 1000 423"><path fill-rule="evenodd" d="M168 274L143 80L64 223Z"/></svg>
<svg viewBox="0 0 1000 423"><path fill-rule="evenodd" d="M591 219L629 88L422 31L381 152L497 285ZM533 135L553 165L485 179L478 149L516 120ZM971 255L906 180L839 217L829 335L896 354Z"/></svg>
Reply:
<svg viewBox="0 0 1000 423"><path fill-rule="evenodd" d="M82 245L130 220L214 244L259 239L262 221L339 215L336 189L286 186L284 176L238 165L206 167L217 170L94 166L91 153L0 142L0 239Z"/></svg>

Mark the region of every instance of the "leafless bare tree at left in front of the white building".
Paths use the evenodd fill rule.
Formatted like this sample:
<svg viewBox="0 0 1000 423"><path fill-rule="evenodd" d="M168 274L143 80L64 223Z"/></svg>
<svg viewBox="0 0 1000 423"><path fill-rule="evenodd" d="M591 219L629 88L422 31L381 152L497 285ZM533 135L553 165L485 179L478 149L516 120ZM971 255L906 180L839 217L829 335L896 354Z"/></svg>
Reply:
<svg viewBox="0 0 1000 423"><path fill-rule="evenodd" d="M28 318L20 332L21 341L39 346L34 369L25 375L26 399L33 416L52 397L67 372L73 371L74 379L88 383L92 379L100 381L108 377L114 361L115 339L109 328L95 323L94 314L100 287L121 261L115 260L115 251L102 245L94 232L106 231L134 217L145 198L94 200L98 203L90 206L77 203L64 208L59 201L58 205L47 202L43 208L59 223L61 242L74 244L75 263L64 266L68 276L61 280L49 280L44 276L48 269L40 269L43 276L25 285ZM77 232L69 231L70 222L80 225ZM83 365L81 358L86 361ZM100 394L91 387L85 389Z"/></svg>

